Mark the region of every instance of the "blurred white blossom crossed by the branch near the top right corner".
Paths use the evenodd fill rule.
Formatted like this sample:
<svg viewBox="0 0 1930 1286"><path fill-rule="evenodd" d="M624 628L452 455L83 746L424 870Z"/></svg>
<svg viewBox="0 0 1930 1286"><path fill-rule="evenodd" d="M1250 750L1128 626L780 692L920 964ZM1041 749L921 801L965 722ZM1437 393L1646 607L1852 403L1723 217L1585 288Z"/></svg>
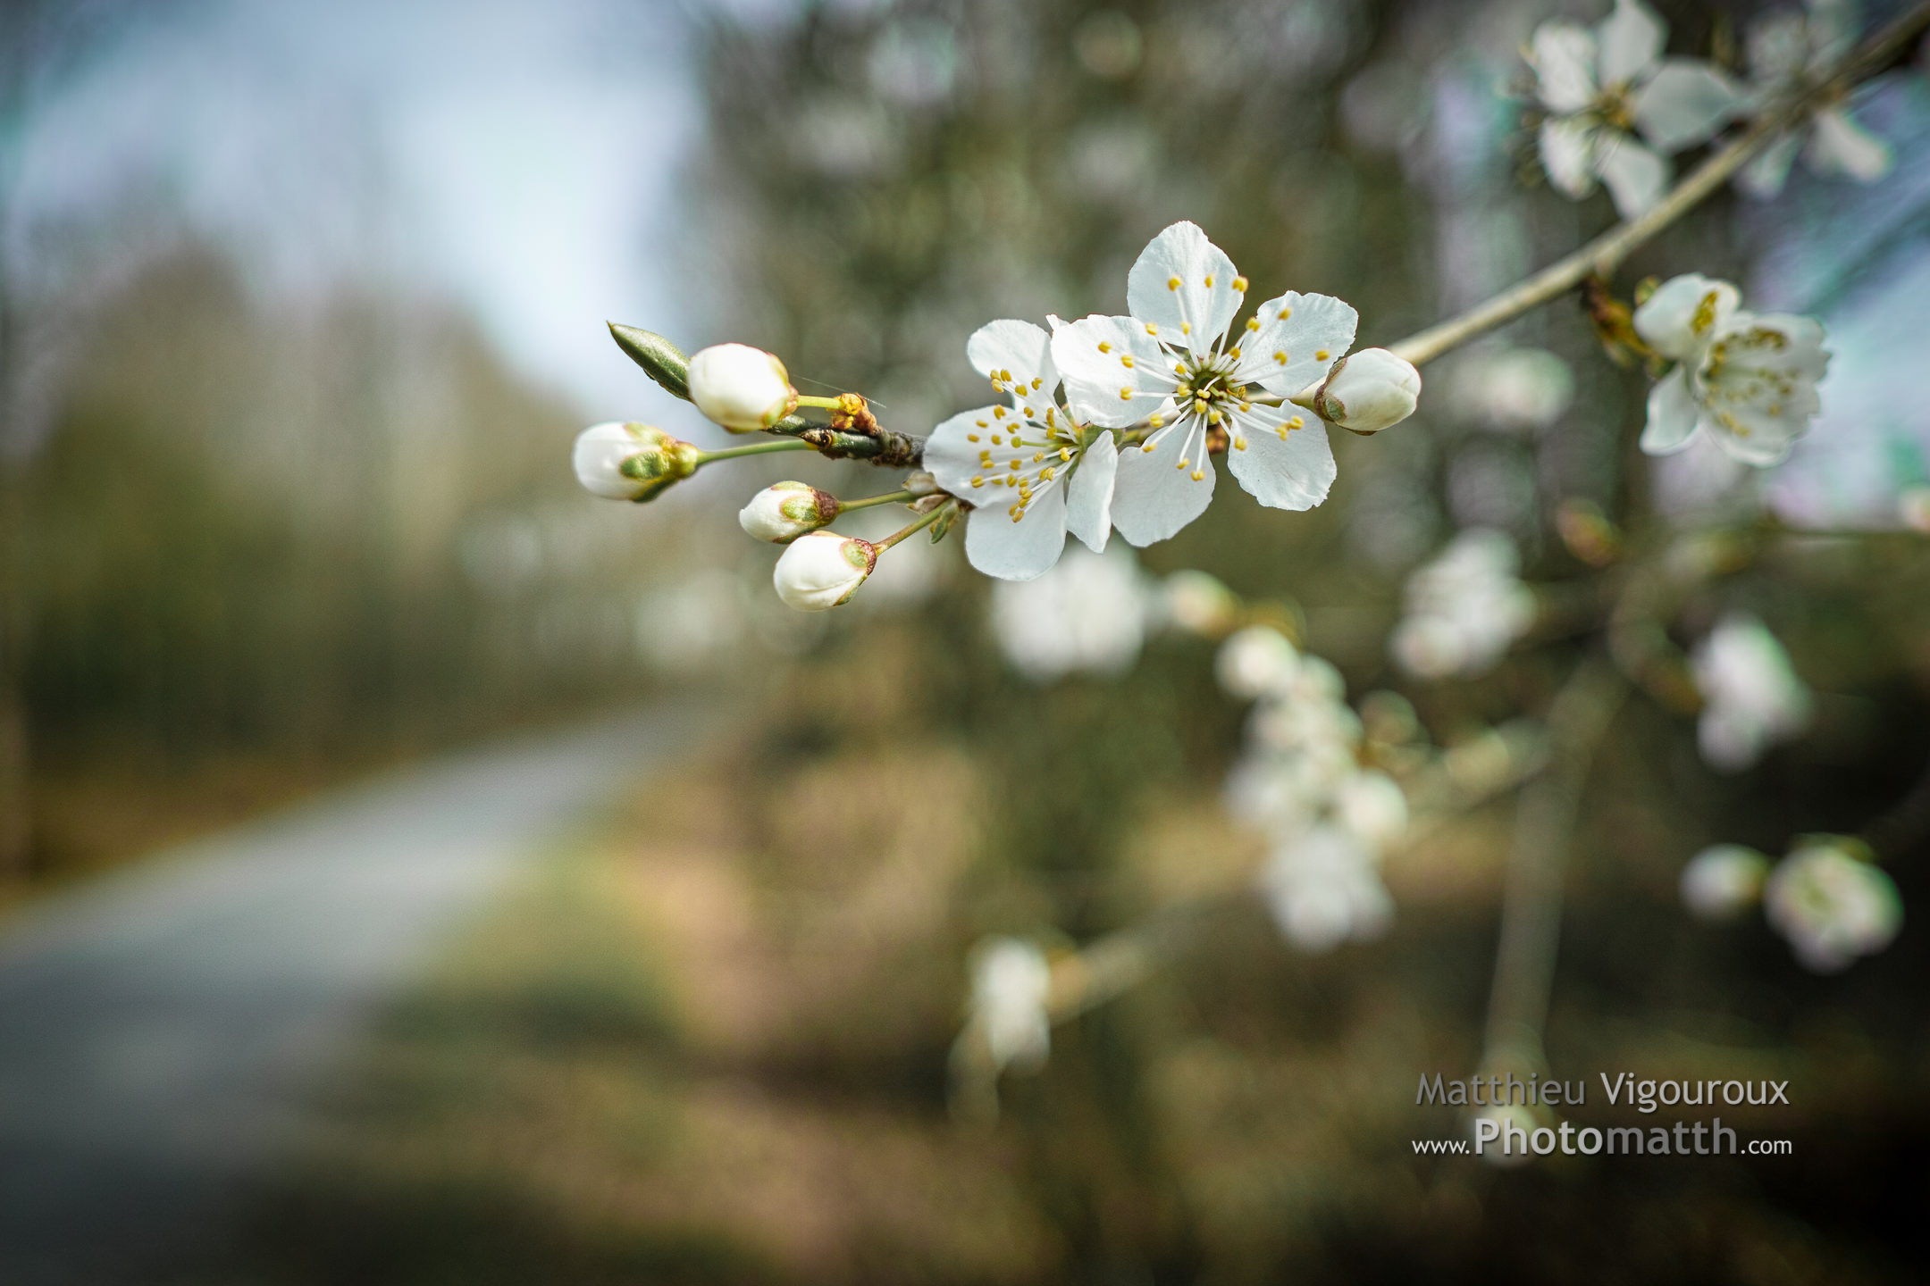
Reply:
<svg viewBox="0 0 1930 1286"><path fill-rule="evenodd" d="M1801 10L1770 13L1749 27L1749 87L1756 106L1770 106L1808 81L1822 79L1857 42L1857 6L1808 0ZM1805 147L1805 143L1808 147ZM1841 102L1830 102L1756 152L1735 185L1766 201L1789 181L1797 152L1824 177L1874 183L1895 164L1889 145L1859 125Z"/></svg>

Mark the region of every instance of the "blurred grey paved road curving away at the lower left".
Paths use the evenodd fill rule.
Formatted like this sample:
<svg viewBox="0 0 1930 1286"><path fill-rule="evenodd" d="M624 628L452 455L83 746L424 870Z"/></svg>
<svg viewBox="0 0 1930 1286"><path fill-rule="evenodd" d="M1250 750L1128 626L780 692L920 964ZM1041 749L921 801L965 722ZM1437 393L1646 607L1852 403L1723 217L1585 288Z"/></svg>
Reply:
<svg viewBox="0 0 1930 1286"><path fill-rule="evenodd" d="M0 925L0 1282L166 1280L372 1005L689 711L463 754Z"/></svg>

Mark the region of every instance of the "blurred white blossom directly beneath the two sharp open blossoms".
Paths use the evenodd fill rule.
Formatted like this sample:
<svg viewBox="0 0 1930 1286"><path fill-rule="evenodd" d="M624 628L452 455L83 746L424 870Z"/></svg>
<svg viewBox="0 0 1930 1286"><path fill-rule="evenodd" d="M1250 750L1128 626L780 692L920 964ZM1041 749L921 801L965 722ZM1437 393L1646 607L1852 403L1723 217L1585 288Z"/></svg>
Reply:
<svg viewBox="0 0 1930 1286"><path fill-rule="evenodd" d="M1033 683L1073 671L1117 675L1139 659L1148 598L1131 551L1073 548L1036 580L992 586L992 632Z"/></svg>

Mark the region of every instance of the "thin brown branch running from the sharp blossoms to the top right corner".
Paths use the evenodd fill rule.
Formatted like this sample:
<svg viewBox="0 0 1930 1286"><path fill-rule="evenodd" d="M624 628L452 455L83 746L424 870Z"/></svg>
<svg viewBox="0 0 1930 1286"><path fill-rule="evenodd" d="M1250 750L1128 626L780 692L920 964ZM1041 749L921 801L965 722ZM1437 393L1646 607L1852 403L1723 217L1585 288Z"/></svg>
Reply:
<svg viewBox="0 0 1930 1286"><path fill-rule="evenodd" d="M1527 281L1502 291L1486 303L1475 305L1461 316L1430 326L1428 330L1409 335L1399 343L1390 343L1388 349L1397 357L1405 357L1415 366L1420 366L1436 357L1442 357L1444 353L1449 353L1451 349L1461 347L1482 332L1515 320L1529 308L1536 308L1550 299L1565 295L1581 285L1581 281L1588 276L1610 276L1623 258L1683 214L1702 204L1702 201L1727 183L1737 170L1747 166L1756 152L1768 147L1779 133L1795 125L1806 112L1822 102L1839 98L1855 83L1884 69L1884 66L1895 58L1895 54L1924 27L1930 27L1930 0L1922 0L1874 37L1864 40L1855 54L1837 66L1837 71L1830 79L1797 93L1787 102L1758 116L1756 123L1751 125L1739 139L1716 150L1714 156L1704 160L1687 179L1677 183L1668 197L1664 197L1640 218L1610 228L1588 245L1581 247L1567 258L1542 268Z"/></svg>

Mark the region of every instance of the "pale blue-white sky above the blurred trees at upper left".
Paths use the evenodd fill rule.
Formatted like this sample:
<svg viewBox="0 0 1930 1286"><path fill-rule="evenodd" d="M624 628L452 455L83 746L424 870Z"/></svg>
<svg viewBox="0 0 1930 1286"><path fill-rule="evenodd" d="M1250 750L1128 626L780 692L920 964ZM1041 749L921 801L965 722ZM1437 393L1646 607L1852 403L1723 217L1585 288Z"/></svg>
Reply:
<svg viewBox="0 0 1930 1286"><path fill-rule="evenodd" d="M679 330L674 262L648 249L681 214L674 179L699 127L674 6L135 12L37 110L23 224L73 229L160 204L262 289L371 274L446 293L585 415L637 413L637 372L602 324ZM104 241L96 256L112 255Z"/></svg>

